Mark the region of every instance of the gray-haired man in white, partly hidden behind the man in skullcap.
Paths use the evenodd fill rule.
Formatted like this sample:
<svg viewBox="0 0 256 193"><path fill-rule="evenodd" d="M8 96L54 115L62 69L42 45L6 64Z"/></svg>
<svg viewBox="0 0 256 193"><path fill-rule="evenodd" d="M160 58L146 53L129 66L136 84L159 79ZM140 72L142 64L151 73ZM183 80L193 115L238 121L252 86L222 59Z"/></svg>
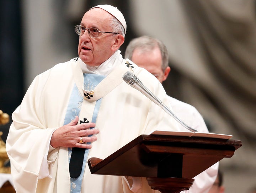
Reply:
<svg viewBox="0 0 256 193"><path fill-rule="evenodd" d="M125 58L129 58L139 67L148 70L162 83L167 79L171 68L168 66L168 51L163 42L150 36L141 36L129 42L125 52ZM203 117L197 109L190 104L179 101L168 96L174 114L190 127L200 133L209 133ZM178 124L181 131L187 131L185 127ZM207 193L214 183L218 173L218 163L206 171L194 177L193 186L184 193ZM183 192L182 192L183 193Z"/></svg>

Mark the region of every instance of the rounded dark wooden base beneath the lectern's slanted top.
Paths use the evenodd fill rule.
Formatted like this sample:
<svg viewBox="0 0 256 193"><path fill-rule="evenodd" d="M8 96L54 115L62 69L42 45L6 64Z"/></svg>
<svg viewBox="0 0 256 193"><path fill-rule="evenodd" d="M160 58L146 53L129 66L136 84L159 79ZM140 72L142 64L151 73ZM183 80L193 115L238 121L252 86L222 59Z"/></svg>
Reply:
<svg viewBox="0 0 256 193"><path fill-rule="evenodd" d="M146 178L149 186L161 193L180 193L188 190L194 179L188 178Z"/></svg>

